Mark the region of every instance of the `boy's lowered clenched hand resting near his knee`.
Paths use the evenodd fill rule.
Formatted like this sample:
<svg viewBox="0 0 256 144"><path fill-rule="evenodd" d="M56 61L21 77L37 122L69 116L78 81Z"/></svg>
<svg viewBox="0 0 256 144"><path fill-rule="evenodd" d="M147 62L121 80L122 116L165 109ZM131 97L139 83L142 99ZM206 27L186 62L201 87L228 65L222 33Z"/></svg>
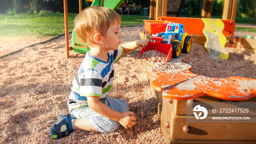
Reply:
<svg viewBox="0 0 256 144"><path fill-rule="evenodd" d="M135 125L136 116L132 111L121 113L120 120L118 121L125 129L132 128Z"/></svg>

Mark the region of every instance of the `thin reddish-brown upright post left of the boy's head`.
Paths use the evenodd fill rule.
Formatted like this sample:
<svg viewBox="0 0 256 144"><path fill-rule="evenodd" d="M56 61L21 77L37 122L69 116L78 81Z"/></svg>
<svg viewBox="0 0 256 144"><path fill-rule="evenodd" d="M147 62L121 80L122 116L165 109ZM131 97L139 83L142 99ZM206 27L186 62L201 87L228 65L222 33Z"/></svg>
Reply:
<svg viewBox="0 0 256 144"><path fill-rule="evenodd" d="M64 5L64 26L65 26L65 42L66 42L66 53L69 58L69 41L68 41L68 0L63 0Z"/></svg>

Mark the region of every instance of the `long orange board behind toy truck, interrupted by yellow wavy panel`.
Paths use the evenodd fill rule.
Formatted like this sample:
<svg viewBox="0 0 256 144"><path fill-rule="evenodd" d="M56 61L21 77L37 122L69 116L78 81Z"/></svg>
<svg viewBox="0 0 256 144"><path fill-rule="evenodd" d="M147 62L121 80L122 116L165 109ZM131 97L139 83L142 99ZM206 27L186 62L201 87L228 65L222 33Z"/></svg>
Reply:
<svg viewBox="0 0 256 144"><path fill-rule="evenodd" d="M158 20L167 20L173 23L181 23L184 25L184 30L189 34L203 34L204 22L201 18L181 18L181 17L169 17L169 16L160 16L157 18ZM222 33L225 36L233 36L235 31L235 22L234 20L222 20L225 27ZM151 22L153 23L153 22ZM145 27L146 29L146 27ZM165 31L165 30L164 30Z"/></svg>

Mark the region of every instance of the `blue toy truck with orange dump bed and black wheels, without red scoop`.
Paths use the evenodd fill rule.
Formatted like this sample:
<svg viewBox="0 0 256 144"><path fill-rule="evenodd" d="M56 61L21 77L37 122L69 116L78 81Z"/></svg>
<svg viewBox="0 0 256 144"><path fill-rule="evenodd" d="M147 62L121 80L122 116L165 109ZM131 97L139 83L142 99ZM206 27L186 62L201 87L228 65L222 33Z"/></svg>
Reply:
<svg viewBox="0 0 256 144"><path fill-rule="evenodd" d="M151 36L163 37L161 43L172 44L172 57L178 58L181 53L188 54L191 51L192 39L184 31L183 24L172 23L166 20L143 20L144 28L143 38L151 40ZM165 32L164 32L165 31Z"/></svg>

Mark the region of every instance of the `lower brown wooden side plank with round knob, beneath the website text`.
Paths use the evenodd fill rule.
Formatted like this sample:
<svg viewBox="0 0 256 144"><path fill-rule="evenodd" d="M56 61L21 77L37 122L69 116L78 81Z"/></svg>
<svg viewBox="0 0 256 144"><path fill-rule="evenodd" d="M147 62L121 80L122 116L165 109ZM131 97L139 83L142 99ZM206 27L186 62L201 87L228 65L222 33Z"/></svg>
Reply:
<svg viewBox="0 0 256 144"><path fill-rule="evenodd" d="M194 118L194 116L172 114L172 118L169 132L173 140L256 141L256 123L186 123L186 118ZM185 125L191 127L189 133L182 131Z"/></svg>

